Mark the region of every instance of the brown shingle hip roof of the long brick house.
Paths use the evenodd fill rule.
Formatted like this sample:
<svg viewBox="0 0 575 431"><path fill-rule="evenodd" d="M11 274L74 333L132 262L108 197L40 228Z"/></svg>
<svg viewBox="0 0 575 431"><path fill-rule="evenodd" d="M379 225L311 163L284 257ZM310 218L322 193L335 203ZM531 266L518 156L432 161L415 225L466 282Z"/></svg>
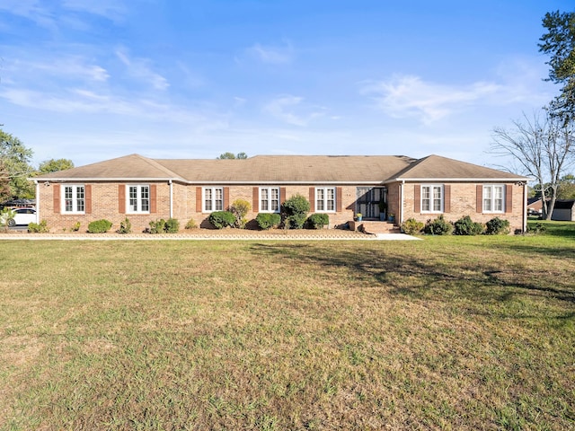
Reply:
<svg viewBox="0 0 575 431"><path fill-rule="evenodd" d="M438 155L257 155L248 159L149 159L130 154L35 180L176 180L193 184L381 184L407 179L509 179L517 175Z"/></svg>

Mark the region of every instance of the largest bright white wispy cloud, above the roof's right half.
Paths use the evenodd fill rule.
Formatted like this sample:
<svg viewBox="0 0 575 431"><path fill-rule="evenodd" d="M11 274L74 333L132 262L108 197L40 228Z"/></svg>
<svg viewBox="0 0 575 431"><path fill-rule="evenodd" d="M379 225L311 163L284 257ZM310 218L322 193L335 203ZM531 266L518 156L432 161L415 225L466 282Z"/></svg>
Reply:
<svg viewBox="0 0 575 431"><path fill-rule="evenodd" d="M361 93L370 96L376 101L376 106L390 117L416 117L429 124L501 90L499 84L493 83L435 84L424 82L418 76L406 75L364 83Z"/></svg>

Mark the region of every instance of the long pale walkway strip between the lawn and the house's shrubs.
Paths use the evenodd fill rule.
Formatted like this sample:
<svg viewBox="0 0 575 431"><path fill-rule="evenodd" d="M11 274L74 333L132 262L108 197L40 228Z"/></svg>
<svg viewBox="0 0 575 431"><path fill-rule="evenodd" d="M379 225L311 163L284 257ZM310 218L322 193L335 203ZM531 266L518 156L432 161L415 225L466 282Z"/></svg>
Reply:
<svg viewBox="0 0 575 431"><path fill-rule="evenodd" d="M253 231L247 229L194 229L180 233L28 233L14 230L0 233L0 240L16 241L409 241L420 240L405 233L378 233L375 235L341 229L320 230L270 230Z"/></svg>

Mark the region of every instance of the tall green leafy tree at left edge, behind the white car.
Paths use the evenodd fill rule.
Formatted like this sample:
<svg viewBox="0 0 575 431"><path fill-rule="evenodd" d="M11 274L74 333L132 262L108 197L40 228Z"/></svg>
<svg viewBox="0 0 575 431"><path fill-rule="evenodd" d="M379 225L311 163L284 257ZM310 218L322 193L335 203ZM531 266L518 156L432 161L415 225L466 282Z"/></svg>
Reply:
<svg viewBox="0 0 575 431"><path fill-rule="evenodd" d="M7 198L34 197L33 184L27 180L33 173L30 165L32 154L20 139L0 129L0 178L9 182L10 196Z"/></svg>

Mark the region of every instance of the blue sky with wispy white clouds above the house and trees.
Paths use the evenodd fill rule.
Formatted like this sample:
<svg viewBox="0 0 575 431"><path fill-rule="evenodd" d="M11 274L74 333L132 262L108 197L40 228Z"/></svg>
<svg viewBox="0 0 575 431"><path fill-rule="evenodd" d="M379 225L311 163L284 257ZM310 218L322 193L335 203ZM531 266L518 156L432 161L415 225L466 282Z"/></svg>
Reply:
<svg viewBox="0 0 575 431"><path fill-rule="evenodd" d="M439 154L559 91L571 1L2 0L0 123L33 163L142 154Z"/></svg>

